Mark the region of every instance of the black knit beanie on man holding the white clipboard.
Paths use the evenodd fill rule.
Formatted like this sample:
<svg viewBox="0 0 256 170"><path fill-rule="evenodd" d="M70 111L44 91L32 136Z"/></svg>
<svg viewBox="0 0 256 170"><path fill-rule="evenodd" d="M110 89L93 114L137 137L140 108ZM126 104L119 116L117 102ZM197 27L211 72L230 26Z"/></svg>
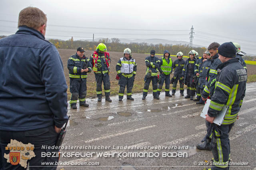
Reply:
<svg viewBox="0 0 256 170"><path fill-rule="evenodd" d="M236 47L232 42L226 42L218 47L218 53L224 57L236 57Z"/></svg>

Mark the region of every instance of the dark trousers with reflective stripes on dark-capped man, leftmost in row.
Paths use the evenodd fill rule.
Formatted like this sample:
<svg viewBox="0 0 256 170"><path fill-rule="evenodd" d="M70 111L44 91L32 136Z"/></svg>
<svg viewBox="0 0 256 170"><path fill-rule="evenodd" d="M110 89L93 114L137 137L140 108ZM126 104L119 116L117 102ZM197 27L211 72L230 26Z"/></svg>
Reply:
<svg viewBox="0 0 256 170"><path fill-rule="evenodd" d="M79 98L79 104L86 103L85 97L87 93L86 79L70 78L70 105L76 105L76 101Z"/></svg>

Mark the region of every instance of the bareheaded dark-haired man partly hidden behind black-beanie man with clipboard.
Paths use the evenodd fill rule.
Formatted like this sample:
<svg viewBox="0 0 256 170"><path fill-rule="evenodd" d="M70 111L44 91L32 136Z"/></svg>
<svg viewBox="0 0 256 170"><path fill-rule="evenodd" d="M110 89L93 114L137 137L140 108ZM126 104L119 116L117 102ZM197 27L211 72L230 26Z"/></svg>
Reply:
<svg viewBox="0 0 256 170"><path fill-rule="evenodd" d="M203 92L201 93L201 97L202 98L208 98L213 94L214 91L214 86L211 86L212 80L214 80L217 77L217 70L216 67L221 64L220 59L218 58L218 47L220 46L219 43L217 42L213 42L208 46L208 51L210 53L210 56L212 57L212 65L210 67L210 71L209 73L206 75L206 77L208 77L208 80L206 82L206 85L204 87ZM212 89L210 89L210 87L212 87ZM208 129L210 126L210 123L208 121L206 121L206 128ZM212 136L212 134L206 133L206 135L204 136L204 139L201 140L200 144L196 145L196 148L200 149L200 150L210 150L210 142L211 142L211 138L210 136Z"/></svg>

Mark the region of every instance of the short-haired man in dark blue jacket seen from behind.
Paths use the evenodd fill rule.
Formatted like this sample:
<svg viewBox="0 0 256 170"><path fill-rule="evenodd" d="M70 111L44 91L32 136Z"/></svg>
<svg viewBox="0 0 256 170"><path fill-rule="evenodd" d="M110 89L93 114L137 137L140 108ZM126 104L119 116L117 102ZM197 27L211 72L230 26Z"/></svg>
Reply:
<svg viewBox="0 0 256 170"><path fill-rule="evenodd" d="M26 164L12 165L24 159L30 166L58 162L54 156L42 156L42 152L58 149L42 146L54 146L68 121L67 84L60 55L44 38L46 22L40 9L24 8L19 14L19 30L0 40L0 169L24 169ZM15 140L19 142L15 146L30 143L34 150L12 156L22 152L18 148L6 150ZM56 166L40 168L55 170Z"/></svg>

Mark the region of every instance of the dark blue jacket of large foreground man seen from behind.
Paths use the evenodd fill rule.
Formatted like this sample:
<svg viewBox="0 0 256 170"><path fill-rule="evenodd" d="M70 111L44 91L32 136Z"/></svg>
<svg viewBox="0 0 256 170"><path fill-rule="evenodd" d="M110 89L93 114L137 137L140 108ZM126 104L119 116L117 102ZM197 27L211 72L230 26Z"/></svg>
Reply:
<svg viewBox="0 0 256 170"><path fill-rule="evenodd" d="M0 39L0 130L62 127L66 91L60 55L40 32L21 26Z"/></svg>

